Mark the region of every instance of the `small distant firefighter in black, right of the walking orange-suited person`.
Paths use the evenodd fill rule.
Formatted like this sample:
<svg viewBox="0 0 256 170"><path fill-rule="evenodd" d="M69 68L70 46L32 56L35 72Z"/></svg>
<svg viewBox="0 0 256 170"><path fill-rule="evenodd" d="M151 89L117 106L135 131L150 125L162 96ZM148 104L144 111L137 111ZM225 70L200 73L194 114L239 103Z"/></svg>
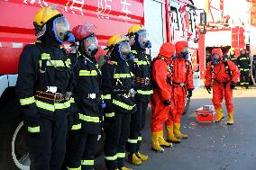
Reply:
<svg viewBox="0 0 256 170"><path fill-rule="evenodd" d="M241 54L237 58L237 67L240 69L240 85L249 88L249 71L251 69L251 59L246 54L246 49L240 50Z"/></svg>

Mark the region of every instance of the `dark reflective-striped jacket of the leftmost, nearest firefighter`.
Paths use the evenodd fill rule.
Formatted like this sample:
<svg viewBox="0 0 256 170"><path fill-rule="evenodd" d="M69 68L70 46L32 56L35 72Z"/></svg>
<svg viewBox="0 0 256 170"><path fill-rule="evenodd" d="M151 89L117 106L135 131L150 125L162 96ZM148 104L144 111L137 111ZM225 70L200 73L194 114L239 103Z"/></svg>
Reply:
<svg viewBox="0 0 256 170"><path fill-rule="evenodd" d="M67 116L70 101L70 59L52 40L29 44L20 57L16 94L31 132L40 128L39 116L52 120ZM56 95L56 94L59 95ZM59 97L57 97L59 96Z"/></svg>

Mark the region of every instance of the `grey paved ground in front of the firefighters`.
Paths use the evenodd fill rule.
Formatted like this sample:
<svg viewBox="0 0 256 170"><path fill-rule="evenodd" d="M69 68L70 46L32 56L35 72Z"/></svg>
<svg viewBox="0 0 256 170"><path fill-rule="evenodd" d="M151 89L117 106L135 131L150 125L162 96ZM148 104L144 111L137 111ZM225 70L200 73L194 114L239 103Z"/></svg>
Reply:
<svg viewBox="0 0 256 170"><path fill-rule="evenodd" d="M235 124L197 123L197 108L211 104L211 94L206 90L196 92L187 114L182 119L182 131L188 139L167 148L163 154L151 151L150 119L144 130L142 152L151 160L142 166L126 165L133 170L255 170L256 169L256 88L238 87L233 93ZM104 166L97 169L105 170Z"/></svg>

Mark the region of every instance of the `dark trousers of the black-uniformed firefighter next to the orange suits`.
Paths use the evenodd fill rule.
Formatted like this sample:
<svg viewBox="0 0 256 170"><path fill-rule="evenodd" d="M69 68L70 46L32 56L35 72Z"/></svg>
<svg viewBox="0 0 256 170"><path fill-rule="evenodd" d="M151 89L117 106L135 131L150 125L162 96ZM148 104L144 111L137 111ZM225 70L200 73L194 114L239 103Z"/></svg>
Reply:
<svg viewBox="0 0 256 170"><path fill-rule="evenodd" d="M131 116L130 136L127 142L127 151L130 153L137 153L142 144L142 130L145 127L146 110L148 103L138 102L137 112Z"/></svg>

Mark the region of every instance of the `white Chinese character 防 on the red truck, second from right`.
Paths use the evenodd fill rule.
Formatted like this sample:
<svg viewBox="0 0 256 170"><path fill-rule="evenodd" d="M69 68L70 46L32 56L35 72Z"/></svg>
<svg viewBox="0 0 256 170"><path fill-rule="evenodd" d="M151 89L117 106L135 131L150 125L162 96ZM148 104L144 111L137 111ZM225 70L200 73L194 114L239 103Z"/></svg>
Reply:
<svg viewBox="0 0 256 170"><path fill-rule="evenodd" d="M112 0L98 0L97 1L97 10L96 15L99 18L109 19L109 13L111 12L111 4L108 2L112 2Z"/></svg>

